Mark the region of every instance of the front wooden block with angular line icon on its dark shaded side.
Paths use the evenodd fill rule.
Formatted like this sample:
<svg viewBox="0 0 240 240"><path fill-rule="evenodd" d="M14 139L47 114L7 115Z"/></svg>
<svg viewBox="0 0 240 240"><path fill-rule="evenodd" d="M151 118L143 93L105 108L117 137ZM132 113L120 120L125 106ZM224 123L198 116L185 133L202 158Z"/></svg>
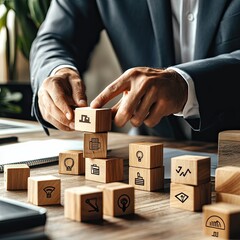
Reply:
<svg viewBox="0 0 240 240"><path fill-rule="evenodd" d="M102 190L98 188L68 188L64 191L64 216L77 222L102 220L102 198Z"/></svg>

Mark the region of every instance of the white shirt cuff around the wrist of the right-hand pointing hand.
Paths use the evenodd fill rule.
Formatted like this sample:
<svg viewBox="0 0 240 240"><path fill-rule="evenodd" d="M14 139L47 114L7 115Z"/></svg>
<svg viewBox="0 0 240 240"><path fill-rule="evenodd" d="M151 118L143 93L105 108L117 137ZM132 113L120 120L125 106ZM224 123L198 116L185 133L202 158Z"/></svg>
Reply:
<svg viewBox="0 0 240 240"><path fill-rule="evenodd" d="M174 70L179 73L188 85L188 99L183 108L182 112L174 114L175 116L181 116L183 118L200 118L199 113L199 104L195 92L195 86L192 78L184 71L176 68L176 67L169 67L168 69Z"/></svg>

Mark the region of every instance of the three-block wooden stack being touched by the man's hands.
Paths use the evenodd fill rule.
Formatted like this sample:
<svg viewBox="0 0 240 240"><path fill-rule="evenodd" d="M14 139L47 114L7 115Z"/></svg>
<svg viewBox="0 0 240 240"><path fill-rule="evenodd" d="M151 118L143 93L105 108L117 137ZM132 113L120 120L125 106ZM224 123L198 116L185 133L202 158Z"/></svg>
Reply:
<svg viewBox="0 0 240 240"><path fill-rule="evenodd" d="M107 136L111 130L111 109L75 109L75 130L84 132L85 178L109 183L123 180L123 159L107 158Z"/></svg>

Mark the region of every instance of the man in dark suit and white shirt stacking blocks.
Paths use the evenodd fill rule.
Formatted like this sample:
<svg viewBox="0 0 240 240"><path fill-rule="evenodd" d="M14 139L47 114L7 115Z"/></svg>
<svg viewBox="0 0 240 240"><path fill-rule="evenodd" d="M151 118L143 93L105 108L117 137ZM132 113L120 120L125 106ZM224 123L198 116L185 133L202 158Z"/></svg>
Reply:
<svg viewBox="0 0 240 240"><path fill-rule="evenodd" d="M33 112L44 128L74 129L87 106L82 74L103 29L123 74L91 107L139 134L216 141L240 126L239 0L52 0L32 45ZM94 83L93 83L94 86Z"/></svg>

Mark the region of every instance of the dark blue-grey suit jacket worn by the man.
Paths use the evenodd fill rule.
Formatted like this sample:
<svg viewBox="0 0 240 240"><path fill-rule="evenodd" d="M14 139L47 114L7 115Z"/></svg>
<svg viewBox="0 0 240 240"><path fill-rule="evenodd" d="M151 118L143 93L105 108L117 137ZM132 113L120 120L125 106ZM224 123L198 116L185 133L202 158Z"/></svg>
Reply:
<svg viewBox="0 0 240 240"><path fill-rule="evenodd" d="M200 129L193 139L217 140L219 131L240 127L239 26L239 0L199 1L195 60L177 65L192 77L199 102L200 120L189 121ZM103 29L123 71L176 66L170 0L53 0L30 57L34 112L44 126L36 102L43 80L61 64L82 74ZM164 121L171 136L184 138L177 117Z"/></svg>

